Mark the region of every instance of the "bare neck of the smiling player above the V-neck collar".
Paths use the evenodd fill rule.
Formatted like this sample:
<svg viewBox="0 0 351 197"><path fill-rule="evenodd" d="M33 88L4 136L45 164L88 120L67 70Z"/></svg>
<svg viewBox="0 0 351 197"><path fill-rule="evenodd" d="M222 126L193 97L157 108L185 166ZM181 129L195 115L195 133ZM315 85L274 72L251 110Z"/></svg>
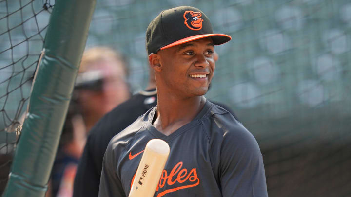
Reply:
<svg viewBox="0 0 351 197"><path fill-rule="evenodd" d="M190 123L205 105L203 96L178 98L157 95L157 107L153 125L158 131L170 135L183 125Z"/></svg>

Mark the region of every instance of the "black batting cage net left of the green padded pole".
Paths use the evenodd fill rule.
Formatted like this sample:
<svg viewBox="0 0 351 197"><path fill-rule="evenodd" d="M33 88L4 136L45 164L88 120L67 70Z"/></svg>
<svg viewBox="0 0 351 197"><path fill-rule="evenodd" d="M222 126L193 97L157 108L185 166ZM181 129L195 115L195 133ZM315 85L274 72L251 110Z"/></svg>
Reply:
<svg viewBox="0 0 351 197"><path fill-rule="evenodd" d="M53 5L54 0L0 0L0 196Z"/></svg>

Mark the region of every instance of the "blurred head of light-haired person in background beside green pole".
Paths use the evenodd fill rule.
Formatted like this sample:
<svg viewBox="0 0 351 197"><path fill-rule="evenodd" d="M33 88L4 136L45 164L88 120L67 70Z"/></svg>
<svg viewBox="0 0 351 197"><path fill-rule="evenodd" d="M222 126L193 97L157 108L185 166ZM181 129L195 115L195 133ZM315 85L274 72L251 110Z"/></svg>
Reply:
<svg viewBox="0 0 351 197"><path fill-rule="evenodd" d="M107 112L130 97L124 57L107 47L84 52L75 86L75 95L86 130Z"/></svg>

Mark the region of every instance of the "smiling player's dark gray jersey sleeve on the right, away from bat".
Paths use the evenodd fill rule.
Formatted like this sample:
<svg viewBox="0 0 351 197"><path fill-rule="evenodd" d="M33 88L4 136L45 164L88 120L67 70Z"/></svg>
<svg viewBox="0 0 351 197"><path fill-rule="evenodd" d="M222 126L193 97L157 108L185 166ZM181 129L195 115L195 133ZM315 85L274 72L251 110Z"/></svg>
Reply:
<svg viewBox="0 0 351 197"><path fill-rule="evenodd" d="M263 158L254 136L237 123L223 135L220 184L223 197L268 197Z"/></svg>

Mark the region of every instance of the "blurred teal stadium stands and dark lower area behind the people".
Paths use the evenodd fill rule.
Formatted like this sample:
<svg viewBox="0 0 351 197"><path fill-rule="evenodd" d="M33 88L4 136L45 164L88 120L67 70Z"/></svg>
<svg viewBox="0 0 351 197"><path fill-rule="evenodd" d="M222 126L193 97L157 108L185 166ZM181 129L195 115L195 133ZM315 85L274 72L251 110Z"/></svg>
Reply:
<svg viewBox="0 0 351 197"><path fill-rule="evenodd" d="M13 153L54 4L0 0L0 155ZM180 5L233 38L215 47L206 97L230 106L255 136L270 197L351 197L351 1L98 0L86 48L120 51L132 92L143 90L146 28ZM1 159L0 171L10 164Z"/></svg>

